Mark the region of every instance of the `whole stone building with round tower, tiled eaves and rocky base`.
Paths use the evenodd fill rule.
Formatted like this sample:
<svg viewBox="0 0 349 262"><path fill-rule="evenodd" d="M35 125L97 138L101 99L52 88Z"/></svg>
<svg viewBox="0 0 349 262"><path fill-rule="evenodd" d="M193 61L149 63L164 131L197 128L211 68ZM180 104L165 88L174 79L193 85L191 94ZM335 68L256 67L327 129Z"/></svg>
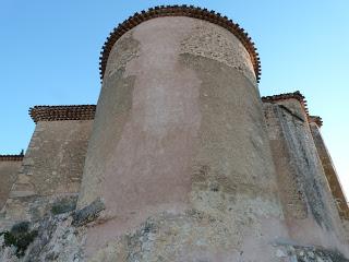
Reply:
<svg viewBox="0 0 349 262"><path fill-rule="evenodd" d="M157 7L100 59L97 107L32 108L17 175L0 158L0 261L349 261L322 121L299 92L260 96L238 24Z"/></svg>

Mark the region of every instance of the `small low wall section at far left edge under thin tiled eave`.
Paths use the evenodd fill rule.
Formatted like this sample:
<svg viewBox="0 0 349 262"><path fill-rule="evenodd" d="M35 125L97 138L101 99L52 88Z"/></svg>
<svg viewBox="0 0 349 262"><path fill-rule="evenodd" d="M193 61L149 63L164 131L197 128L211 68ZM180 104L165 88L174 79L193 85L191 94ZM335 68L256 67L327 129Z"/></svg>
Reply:
<svg viewBox="0 0 349 262"><path fill-rule="evenodd" d="M0 210L9 198L21 165L20 160L0 160Z"/></svg>

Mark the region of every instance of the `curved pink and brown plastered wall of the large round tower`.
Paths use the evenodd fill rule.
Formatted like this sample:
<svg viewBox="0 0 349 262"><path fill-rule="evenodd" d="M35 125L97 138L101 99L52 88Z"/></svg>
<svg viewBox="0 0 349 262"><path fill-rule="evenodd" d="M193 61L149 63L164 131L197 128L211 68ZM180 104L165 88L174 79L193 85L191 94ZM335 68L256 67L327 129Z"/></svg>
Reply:
<svg viewBox="0 0 349 262"><path fill-rule="evenodd" d="M117 41L79 200L106 205L87 230L88 258L278 261L269 243L287 233L241 48L226 29L189 17L151 20ZM148 221L156 236L132 237Z"/></svg>

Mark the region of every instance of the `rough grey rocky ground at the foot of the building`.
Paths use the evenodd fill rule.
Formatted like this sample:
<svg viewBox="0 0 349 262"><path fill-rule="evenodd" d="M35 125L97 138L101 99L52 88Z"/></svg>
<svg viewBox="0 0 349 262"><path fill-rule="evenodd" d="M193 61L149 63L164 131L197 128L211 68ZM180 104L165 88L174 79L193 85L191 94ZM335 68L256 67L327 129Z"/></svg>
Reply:
<svg viewBox="0 0 349 262"><path fill-rule="evenodd" d="M36 223L21 222L13 225L11 229L0 233L0 261L88 261L84 258L85 233L88 223L94 223L103 209L103 203L97 200L81 211L67 211L65 209L55 211L53 209L53 213L58 211L64 213L50 214ZM149 229L145 231L151 234ZM131 248L129 255L118 257L118 252L109 252L110 258L104 257L103 261L145 261L142 259L142 248L140 249L140 247L146 245L145 241L152 241L152 239L139 236L139 231L130 231L127 235L130 239L136 238L135 241L140 243L136 247L139 255L132 255L134 250ZM290 243L275 243L273 247L275 248L275 258L280 262L349 261L337 251L325 250L320 247L301 247ZM161 258L156 261L171 260Z"/></svg>

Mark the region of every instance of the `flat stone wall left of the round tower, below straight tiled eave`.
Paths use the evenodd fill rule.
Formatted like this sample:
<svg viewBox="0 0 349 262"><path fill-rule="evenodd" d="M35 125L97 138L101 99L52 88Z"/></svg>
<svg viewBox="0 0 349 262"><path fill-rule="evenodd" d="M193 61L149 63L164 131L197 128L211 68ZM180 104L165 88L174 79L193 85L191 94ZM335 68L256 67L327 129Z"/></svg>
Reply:
<svg viewBox="0 0 349 262"><path fill-rule="evenodd" d="M74 207L92 120L38 121L10 199L5 221L35 221L61 203Z"/></svg>

